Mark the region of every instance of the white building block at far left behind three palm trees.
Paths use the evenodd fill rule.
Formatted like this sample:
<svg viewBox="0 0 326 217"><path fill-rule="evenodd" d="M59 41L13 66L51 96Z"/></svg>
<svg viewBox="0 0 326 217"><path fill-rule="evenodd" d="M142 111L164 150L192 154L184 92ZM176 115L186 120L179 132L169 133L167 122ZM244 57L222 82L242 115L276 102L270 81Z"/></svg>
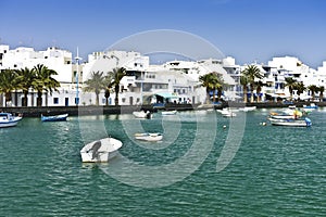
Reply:
<svg viewBox="0 0 326 217"><path fill-rule="evenodd" d="M53 69L58 75L53 76L61 87L58 89L59 92L54 91L52 95L43 97L43 106L55 106L55 105L75 105L76 102L76 75L73 75L74 65L73 56L70 51L62 50L59 48L48 48L45 51L35 51L34 48L18 47L10 50L9 46L0 46L0 69L32 69L37 64L43 64L50 69ZM80 66L79 66L80 67ZM83 74L82 67L79 73ZM36 94L30 90L28 95L28 106L36 105ZM23 94L13 95L13 104L22 105Z"/></svg>

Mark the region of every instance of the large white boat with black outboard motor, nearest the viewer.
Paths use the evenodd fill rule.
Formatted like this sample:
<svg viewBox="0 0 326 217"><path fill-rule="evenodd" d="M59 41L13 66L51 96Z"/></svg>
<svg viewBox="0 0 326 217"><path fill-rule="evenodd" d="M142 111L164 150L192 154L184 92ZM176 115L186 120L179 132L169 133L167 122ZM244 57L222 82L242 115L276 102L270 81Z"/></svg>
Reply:
<svg viewBox="0 0 326 217"><path fill-rule="evenodd" d="M114 138L104 138L86 144L80 150L83 163L105 163L117 154L123 143Z"/></svg>

